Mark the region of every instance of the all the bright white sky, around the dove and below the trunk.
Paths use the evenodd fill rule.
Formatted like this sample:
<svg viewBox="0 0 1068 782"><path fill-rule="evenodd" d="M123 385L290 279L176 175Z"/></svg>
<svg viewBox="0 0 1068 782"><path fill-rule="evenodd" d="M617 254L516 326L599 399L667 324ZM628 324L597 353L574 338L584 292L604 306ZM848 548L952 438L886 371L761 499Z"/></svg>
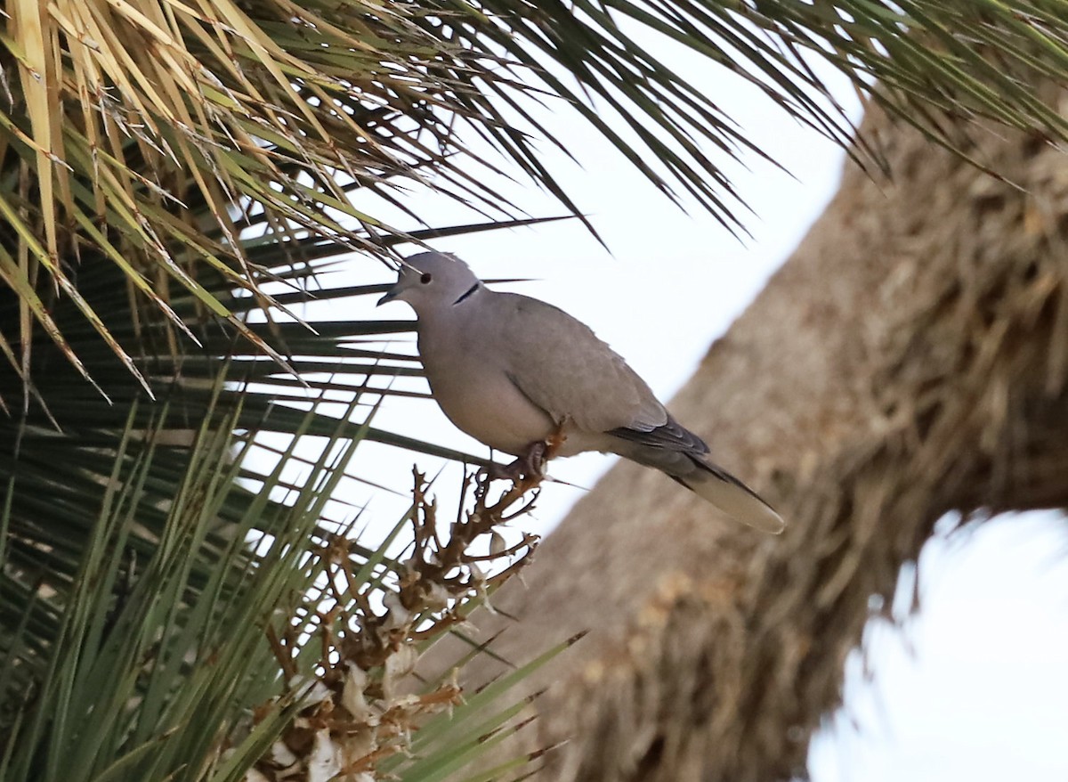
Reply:
<svg viewBox="0 0 1068 782"><path fill-rule="evenodd" d="M754 156L745 159L748 168L724 161L754 212L747 220L752 239L740 243L692 204L685 214L592 128L562 111L552 115L552 126L583 167L548 145L545 159L590 214L611 253L576 221L431 244L457 253L482 277L537 278L502 287L551 301L590 324L669 401L821 213L837 186L844 155L734 77L677 51L664 57L713 91L745 132L790 172ZM827 68L821 74L858 116L850 88ZM533 186L502 187L532 214L561 213ZM454 205L418 199L431 224L470 221ZM414 228L400 215L380 208L373 214ZM368 276L361 269L360 281ZM380 279L391 275L382 268ZM377 312L334 306L344 307L346 317L411 315L403 303ZM410 343L392 347L414 350ZM425 390L422 380L407 386ZM486 452L429 401L390 398L375 424ZM429 457L418 462L430 474L442 466ZM554 462L550 472L588 487L612 463L585 454ZM391 526L407 507L411 467L410 453L361 444L354 471L396 494L349 484L347 499L366 504L364 518ZM455 466L438 478L444 507L459 480ZM577 487L547 486L523 529L551 530L581 496ZM1001 519L931 542L920 564L920 612L902 610L901 627L870 626L863 655L850 660L846 708L829 717L813 741L815 782L1068 779L1068 753L1059 749L1068 725L1068 669L1062 660L1068 648L1066 542L1064 519L1055 514Z"/></svg>

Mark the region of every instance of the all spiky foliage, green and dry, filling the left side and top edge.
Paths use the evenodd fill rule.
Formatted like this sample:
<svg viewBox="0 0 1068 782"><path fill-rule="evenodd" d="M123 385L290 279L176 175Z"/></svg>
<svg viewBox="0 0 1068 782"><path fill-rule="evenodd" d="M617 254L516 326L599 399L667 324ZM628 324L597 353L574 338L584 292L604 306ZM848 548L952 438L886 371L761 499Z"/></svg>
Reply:
<svg viewBox="0 0 1068 782"><path fill-rule="evenodd" d="M396 705L389 660L424 640L413 617L452 622L419 603L444 575L405 580L386 549L332 553L352 518L331 518L326 497L340 454L365 438L471 457L373 426L383 392L367 393L366 379L418 367L360 341L410 324L308 324L300 306L374 293L330 278L343 254L388 259L402 243L522 222L485 171L517 167L583 219L538 160L535 136L566 140L536 119L537 100L579 111L669 197L685 190L740 229L731 183L703 150L733 154L744 136L635 29L754 81L842 142L852 128L807 58L832 61L961 159L976 158L971 141L945 116L1065 135L1026 78L1068 74L1059 2L61 0L4 11L5 779L239 779L267 748L278 765L347 730L321 722L328 701L348 717L358 692ZM868 170L886 162L878 147L851 148ZM423 184L480 222L402 230L351 199L410 212L406 187ZM309 394L343 400L346 415L303 409ZM328 448L292 485L274 462L242 457L264 432ZM423 491L417 480L417 529L434 521ZM336 598L325 584L345 578L351 600L334 603L349 613L323 614L309 589ZM480 599L485 584L466 578L450 605ZM428 584L402 606L399 646L368 631L387 620L361 584L409 596L406 584ZM271 628L276 609L286 620ZM309 651L309 632L377 673L356 682L336 655ZM332 694L312 698L300 684L312 674ZM447 682L427 688L449 700ZM498 719L512 713L482 705L469 701L474 728L461 738L420 734L451 758L441 763L502 735ZM418 711L398 724L424 720ZM396 765L384 747L347 750L344 770L433 770Z"/></svg>

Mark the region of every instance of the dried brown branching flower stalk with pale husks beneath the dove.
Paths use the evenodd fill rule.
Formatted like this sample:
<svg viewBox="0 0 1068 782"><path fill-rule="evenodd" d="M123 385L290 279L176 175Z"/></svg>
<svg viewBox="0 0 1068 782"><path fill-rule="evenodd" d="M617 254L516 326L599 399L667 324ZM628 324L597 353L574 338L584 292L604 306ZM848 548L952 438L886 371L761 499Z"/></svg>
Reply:
<svg viewBox="0 0 1068 782"><path fill-rule="evenodd" d="M547 458L561 441L557 435L547 443ZM268 627L289 697L307 705L250 782L372 782L378 764L407 751L425 718L461 702L454 681L418 687L410 674L428 641L488 606L489 593L530 562L538 537L521 533L507 545L497 528L530 513L543 471L499 495L489 476L465 474L459 512L447 529L426 476L418 469L412 474L410 556L374 562L357 556L356 541L327 538L318 552L326 569L321 594L305 596L281 630ZM313 643L315 673L301 675L297 658Z"/></svg>

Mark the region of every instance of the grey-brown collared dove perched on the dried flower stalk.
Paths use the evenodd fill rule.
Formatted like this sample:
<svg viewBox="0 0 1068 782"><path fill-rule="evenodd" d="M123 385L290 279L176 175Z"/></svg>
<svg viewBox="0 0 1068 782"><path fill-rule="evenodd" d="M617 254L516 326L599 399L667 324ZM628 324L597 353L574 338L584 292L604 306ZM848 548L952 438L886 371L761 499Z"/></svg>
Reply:
<svg viewBox="0 0 1068 782"><path fill-rule="evenodd" d="M729 516L767 532L783 519L708 462L627 363L584 324L544 301L487 288L452 255L407 259L379 300L407 301L419 353L441 409L498 451L530 458L562 434L556 455L615 453L665 472ZM539 457L539 456L538 456Z"/></svg>

